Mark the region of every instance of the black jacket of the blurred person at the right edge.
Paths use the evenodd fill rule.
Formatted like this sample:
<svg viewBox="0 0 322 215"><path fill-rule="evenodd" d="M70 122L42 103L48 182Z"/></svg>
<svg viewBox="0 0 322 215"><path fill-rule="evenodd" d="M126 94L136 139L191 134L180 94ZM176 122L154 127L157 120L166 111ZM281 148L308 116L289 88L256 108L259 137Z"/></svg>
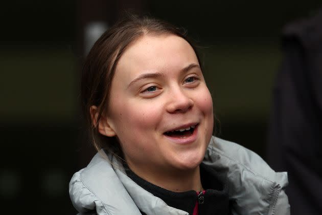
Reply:
<svg viewBox="0 0 322 215"><path fill-rule="evenodd" d="M288 171L291 214L322 212L322 10L288 25L274 89L267 159Z"/></svg>

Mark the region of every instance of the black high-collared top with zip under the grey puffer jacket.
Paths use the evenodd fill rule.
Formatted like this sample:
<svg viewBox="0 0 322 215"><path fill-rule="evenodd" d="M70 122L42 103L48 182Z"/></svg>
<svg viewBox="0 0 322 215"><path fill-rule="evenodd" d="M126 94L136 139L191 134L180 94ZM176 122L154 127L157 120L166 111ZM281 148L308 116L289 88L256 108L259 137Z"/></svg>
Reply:
<svg viewBox="0 0 322 215"><path fill-rule="evenodd" d="M140 178L133 173L127 165L125 165L125 169L128 177L136 184L140 185L154 196L162 199L171 207L187 211L192 215L196 202L198 202L198 215L229 214L228 187L226 183L224 183L223 180L220 180L216 170L203 163L200 164L201 184L205 189L203 201L198 201L198 193L194 190L173 192Z"/></svg>

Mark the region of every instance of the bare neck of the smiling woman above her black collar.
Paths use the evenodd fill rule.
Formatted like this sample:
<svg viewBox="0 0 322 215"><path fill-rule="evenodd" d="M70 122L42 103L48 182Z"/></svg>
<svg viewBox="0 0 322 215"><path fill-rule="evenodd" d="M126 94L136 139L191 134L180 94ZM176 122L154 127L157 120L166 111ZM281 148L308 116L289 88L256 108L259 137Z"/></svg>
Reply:
<svg viewBox="0 0 322 215"><path fill-rule="evenodd" d="M174 192L185 192L188 190L200 191L202 189L200 180L199 165L189 170L164 170L159 168L136 169L134 165L128 163L130 169L144 180ZM156 171L157 170L157 171Z"/></svg>

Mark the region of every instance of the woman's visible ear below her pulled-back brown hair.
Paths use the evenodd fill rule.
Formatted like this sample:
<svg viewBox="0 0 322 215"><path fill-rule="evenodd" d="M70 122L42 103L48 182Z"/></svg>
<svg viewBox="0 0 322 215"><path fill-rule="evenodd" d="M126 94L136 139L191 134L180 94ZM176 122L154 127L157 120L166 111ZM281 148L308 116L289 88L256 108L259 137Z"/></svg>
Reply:
<svg viewBox="0 0 322 215"><path fill-rule="evenodd" d="M97 123L99 123L98 126L98 132L101 135L107 136L107 137L113 137L116 136L116 133L114 132L113 128L110 126L109 120L105 116L101 116L99 122L98 120L98 115L99 115L99 110L98 107L95 105L90 106L90 116L91 116L91 121L93 122L94 126L97 126Z"/></svg>

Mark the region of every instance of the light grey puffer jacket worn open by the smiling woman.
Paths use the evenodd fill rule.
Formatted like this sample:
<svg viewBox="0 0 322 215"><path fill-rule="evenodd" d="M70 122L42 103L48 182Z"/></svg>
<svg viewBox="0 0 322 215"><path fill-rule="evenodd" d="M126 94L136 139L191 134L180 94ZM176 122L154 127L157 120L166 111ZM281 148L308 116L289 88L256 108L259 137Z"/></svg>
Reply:
<svg viewBox="0 0 322 215"><path fill-rule="evenodd" d="M290 214L287 173L275 173L254 152L212 137L203 163L226 174L233 214ZM98 153L74 174L70 196L80 214L188 215L134 183L116 158Z"/></svg>

